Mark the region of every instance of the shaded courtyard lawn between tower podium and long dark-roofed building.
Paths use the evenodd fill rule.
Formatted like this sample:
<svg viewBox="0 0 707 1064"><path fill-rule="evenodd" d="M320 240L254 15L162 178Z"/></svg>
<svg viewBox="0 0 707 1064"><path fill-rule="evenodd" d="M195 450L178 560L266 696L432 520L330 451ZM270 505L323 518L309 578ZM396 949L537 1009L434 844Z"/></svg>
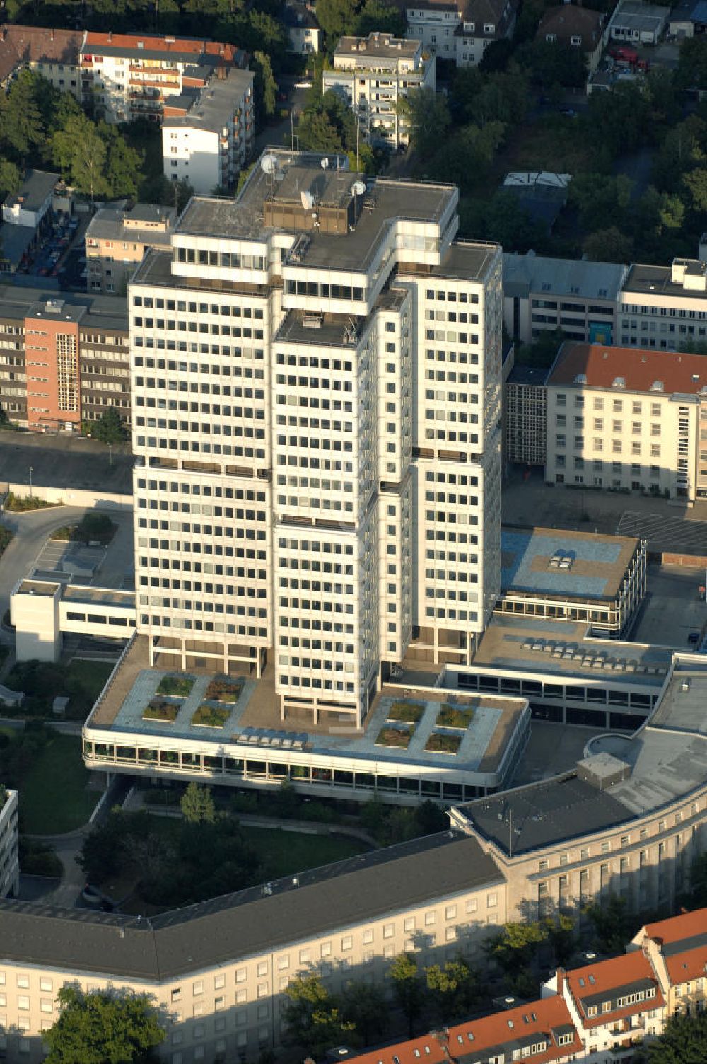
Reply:
<svg viewBox="0 0 707 1064"><path fill-rule="evenodd" d="M242 830L262 855L268 879L291 876L370 850L366 843L349 835L306 835L300 831L283 831L282 828Z"/></svg>

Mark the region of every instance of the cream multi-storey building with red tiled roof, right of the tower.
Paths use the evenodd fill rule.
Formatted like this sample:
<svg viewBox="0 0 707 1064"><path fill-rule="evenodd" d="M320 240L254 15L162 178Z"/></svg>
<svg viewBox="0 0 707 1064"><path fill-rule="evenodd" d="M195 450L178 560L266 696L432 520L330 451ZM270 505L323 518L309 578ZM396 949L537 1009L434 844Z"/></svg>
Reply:
<svg viewBox="0 0 707 1064"><path fill-rule="evenodd" d="M563 344L545 387L549 484L707 495L702 355Z"/></svg>

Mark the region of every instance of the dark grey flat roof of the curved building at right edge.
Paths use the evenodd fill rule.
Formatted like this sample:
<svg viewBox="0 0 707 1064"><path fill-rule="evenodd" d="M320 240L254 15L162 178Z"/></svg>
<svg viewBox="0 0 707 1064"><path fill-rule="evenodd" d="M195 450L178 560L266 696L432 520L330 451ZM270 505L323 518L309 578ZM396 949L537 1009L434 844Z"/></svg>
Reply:
<svg viewBox="0 0 707 1064"><path fill-rule="evenodd" d="M504 853L527 852L669 805L707 779L707 662L678 655L653 715L613 757L626 779L600 791L576 771L457 807Z"/></svg>

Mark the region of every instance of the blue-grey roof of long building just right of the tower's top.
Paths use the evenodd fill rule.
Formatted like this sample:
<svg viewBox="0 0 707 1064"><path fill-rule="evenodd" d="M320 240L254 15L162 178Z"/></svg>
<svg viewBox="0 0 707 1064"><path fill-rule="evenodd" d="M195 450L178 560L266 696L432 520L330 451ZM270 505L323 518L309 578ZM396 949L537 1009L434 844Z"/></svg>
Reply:
<svg viewBox="0 0 707 1064"><path fill-rule="evenodd" d="M593 263L584 259L552 259L546 255L504 254L504 296L527 298L531 293L553 296L579 296L582 299L615 301L626 266Z"/></svg>

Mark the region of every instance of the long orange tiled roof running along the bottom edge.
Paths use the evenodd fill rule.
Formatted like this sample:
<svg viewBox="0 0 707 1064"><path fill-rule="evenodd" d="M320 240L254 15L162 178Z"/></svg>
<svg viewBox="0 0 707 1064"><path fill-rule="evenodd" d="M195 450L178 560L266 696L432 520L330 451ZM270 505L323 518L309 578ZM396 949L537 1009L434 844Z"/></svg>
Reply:
<svg viewBox="0 0 707 1064"><path fill-rule="evenodd" d="M571 1029L574 1040L566 1046L558 1046L552 1034L558 1028ZM572 1023L567 1002L562 997L554 996L532 1001L518 1009L504 1009L491 1016L483 1016L481 1019L451 1027L448 1034L448 1052L449 1057L455 1060L535 1034L539 1041L548 1042L548 1049L528 1058L533 1064L562 1060L582 1049L582 1041ZM438 1033L425 1034L409 1042L385 1046L383 1049L356 1057L356 1064L395 1064L393 1058L397 1058L400 1064L442 1064L447 1059L440 1041L442 1037Z"/></svg>

